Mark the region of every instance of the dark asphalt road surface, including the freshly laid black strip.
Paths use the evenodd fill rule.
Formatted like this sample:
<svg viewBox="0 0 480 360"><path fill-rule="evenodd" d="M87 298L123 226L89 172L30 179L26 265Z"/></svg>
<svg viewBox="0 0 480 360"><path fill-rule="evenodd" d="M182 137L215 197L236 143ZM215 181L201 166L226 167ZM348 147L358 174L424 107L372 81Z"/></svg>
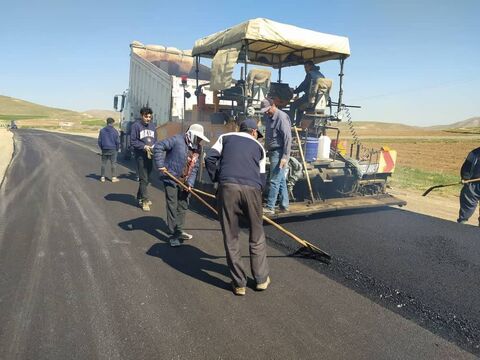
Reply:
<svg viewBox="0 0 480 360"><path fill-rule="evenodd" d="M161 190L152 188L153 211L143 213L131 176L100 183L94 139L19 130L16 141L0 194L1 359L478 354L473 227L399 210L287 222L332 264L288 257L271 241L271 287L239 298L217 222L189 212L195 239L170 248Z"/></svg>

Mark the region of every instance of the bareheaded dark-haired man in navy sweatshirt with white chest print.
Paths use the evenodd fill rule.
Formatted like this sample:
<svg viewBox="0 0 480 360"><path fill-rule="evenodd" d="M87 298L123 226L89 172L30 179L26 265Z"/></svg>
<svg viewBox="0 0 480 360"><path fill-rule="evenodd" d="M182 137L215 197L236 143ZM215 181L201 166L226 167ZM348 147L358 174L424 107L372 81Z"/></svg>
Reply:
<svg viewBox="0 0 480 360"><path fill-rule="evenodd" d="M150 211L152 202L148 199L147 188L153 169L153 147L155 145L155 125L152 123L153 112L148 107L140 110L142 119L132 125L130 143L135 154L139 177L137 201L143 211Z"/></svg>

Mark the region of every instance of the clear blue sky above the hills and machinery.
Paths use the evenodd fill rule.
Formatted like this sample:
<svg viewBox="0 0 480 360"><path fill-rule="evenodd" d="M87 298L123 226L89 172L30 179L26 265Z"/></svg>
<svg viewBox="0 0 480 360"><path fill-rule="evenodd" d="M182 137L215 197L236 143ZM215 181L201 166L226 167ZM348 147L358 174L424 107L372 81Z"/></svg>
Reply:
<svg viewBox="0 0 480 360"><path fill-rule="evenodd" d="M111 109L128 87L129 44L190 49L266 17L347 36L344 100L354 121L447 124L480 116L480 1L2 1L0 94L72 109ZM338 62L322 65L338 83ZM298 85L302 68L284 72ZM1 113L1 109L0 109Z"/></svg>

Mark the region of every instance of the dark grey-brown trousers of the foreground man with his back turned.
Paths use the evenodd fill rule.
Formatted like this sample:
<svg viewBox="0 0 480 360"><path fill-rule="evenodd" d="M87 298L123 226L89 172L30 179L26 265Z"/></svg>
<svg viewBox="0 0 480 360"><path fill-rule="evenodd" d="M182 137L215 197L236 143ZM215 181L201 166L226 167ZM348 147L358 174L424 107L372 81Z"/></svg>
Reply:
<svg viewBox="0 0 480 360"><path fill-rule="evenodd" d="M235 286L245 287L247 275L240 254L240 216L250 229L250 269L255 281L263 283L268 276L267 243L263 231L262 192L251 186L221 184L218 188L218 215L223 232L227 264Z"/></svg>

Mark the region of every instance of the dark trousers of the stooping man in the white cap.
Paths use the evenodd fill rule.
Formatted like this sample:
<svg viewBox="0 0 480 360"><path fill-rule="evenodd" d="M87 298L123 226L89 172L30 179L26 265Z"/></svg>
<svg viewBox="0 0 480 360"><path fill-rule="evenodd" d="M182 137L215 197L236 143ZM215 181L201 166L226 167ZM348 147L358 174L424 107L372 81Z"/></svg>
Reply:
<svg viewBox="0 0 480 360"><path fill-rule="evenodd" d="M168 182L163 183L167 203L167 224L171 235L179 234L185 225L185 213L188 210L190 193Z"/></svg>

